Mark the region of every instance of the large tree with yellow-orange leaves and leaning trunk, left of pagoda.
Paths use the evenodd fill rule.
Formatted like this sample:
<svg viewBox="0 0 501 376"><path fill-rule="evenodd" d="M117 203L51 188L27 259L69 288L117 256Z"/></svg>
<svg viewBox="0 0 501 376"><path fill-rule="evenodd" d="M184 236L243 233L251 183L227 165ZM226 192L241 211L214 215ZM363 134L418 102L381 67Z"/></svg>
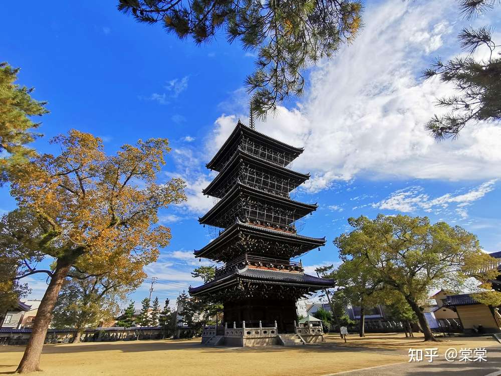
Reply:
<svg viewBox="0 0 501 376"><path fill-rule="evenodd" d="M33 246L55 259L52 270L26 265L24 276L46 273L51 281L18 367L21 373L39 369L52 310L71 271L95 276L111 270L123 278L144 278L142 267L154 262L171 238L170 229L155 225L158 210L186 199L181 179L156 181L170 151L166 139L126 144L111 156L100 138L77 130L51 143L61 148L60 155L37 156L9 173L11 195L41 229Z"/></svg>

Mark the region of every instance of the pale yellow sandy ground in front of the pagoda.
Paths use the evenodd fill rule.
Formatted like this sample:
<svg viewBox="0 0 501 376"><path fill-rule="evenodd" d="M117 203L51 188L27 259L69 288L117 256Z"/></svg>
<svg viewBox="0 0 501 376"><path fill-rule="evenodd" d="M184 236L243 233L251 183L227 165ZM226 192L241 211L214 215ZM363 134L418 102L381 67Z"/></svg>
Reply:
<svg viewBox="0 0 501 376"><path fill-rule="evenodd" d="M438 345L421 337L369 334L366 338L336 335L324 344L294 347L204 347L198 339L99 342L45 345L40 376L48 375L325 375L408 360L409 347L486 347L490 338L452 338ZM443 350L443 351L442 351ZM0 374L12 374L24 346L0 346ZM2 373L4 372L4 373Z"/></svg>

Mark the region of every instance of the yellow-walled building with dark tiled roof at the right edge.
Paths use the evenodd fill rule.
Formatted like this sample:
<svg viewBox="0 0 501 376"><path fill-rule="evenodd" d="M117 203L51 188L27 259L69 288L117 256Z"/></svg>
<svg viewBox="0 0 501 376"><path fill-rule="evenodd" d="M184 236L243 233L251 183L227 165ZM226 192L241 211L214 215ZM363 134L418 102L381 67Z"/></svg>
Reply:
<svg viewBox="0 0 501 376"><path fill-rule="evenodd" d="M497 308L479 303L469 294L447 295L445 304L456 311L465 332L501 332Z"/></svg>

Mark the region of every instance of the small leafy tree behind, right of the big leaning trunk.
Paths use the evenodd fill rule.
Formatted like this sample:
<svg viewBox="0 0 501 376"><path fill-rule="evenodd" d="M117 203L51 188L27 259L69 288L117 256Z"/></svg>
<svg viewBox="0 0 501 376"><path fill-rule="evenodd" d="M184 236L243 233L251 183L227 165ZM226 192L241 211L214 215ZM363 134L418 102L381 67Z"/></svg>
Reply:
<svg viewBox="0 0 501 376"><path fill-rule="evenodd" d="M74 343L80 342L86 327L96 327L115 317L119 301L131 290L106 276L85 277L77 275L64 283L53 310L54 327L76 329Z"/></svg>

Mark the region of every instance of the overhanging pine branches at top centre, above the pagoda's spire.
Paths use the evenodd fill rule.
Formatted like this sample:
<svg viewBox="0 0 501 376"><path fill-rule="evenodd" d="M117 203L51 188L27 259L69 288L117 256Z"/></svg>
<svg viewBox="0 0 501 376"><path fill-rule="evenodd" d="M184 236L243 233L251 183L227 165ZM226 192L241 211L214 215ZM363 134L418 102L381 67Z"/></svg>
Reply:
<svg viewBox="0 0 501 376"><path fill-rule="evenodd" d="M246 85L262 117L289 95L301 95L301 71L353 40L362 24L358 0L119 0L118 10L196 44L224 30L229 42L256 52L257 69Z"/></svg>

